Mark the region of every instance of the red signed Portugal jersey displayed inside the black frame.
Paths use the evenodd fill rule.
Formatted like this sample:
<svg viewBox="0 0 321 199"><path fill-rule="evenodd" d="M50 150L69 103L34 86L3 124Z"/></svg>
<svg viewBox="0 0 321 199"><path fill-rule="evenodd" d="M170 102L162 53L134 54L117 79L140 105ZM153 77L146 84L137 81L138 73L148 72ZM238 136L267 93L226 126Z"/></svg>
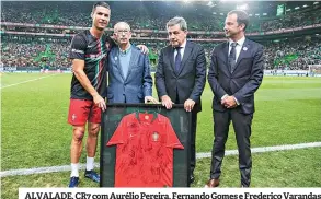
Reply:
<svg viewBox="0 0 321 199"><path fill-rule="evenodd" d="M172 187L173 149L184 149L160 114L123 117L107 145L117 145L115 187Z"/></svg>

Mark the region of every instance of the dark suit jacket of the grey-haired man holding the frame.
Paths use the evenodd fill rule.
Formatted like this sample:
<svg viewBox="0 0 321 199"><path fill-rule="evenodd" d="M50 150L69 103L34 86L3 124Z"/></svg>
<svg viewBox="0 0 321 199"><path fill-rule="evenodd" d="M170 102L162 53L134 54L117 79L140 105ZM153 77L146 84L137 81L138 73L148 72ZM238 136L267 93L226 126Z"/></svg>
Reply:
<svg viewBox="0 0 321 199"><path fill-rule="evenodd" d="M200 45L186 42L179 72L175 72L173 47L161 49L154 77L159 97L169 95L173 103L180 104L191 98L195 101L193 110L202 110L200 95L206 82L206 59Z"/></svg>

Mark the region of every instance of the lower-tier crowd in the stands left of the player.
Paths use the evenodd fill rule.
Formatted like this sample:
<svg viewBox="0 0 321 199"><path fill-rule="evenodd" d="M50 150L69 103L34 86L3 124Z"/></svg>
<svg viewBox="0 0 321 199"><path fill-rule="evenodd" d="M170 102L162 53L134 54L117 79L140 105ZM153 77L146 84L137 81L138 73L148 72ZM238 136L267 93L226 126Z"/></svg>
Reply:
<svg viewBox="0 0 321 199"><path fill-rule="evenodd" d="M1 61L4 67L68 68L69 43L61 38L3 37Z"/></svg>

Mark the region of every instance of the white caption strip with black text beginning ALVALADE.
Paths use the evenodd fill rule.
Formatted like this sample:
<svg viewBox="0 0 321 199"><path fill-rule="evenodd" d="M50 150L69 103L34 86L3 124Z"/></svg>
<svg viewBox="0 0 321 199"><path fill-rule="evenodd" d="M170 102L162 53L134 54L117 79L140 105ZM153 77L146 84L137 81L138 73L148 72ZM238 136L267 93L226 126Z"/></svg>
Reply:
<svg viewBox="0 0 321 199"><path fill-rule="evenodd" d="M19 188L19 199L321 199L321 189Z"/></svg>

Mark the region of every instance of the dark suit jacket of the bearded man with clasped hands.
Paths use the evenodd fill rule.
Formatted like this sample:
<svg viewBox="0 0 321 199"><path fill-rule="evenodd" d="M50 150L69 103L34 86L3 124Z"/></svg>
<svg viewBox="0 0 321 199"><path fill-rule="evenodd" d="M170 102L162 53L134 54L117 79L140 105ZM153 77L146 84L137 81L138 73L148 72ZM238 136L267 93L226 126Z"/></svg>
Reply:
<svg viewBox="0 0 321 199"><path fill-rule="evenodd" d="M263 46L245 38L233 72L228 65L229 43L214 48L208 71L208 83L214 93L213 109L225 112L220 104L225 94L233 95L243 114L254 113L254 93L263 79Z"/></svg>

